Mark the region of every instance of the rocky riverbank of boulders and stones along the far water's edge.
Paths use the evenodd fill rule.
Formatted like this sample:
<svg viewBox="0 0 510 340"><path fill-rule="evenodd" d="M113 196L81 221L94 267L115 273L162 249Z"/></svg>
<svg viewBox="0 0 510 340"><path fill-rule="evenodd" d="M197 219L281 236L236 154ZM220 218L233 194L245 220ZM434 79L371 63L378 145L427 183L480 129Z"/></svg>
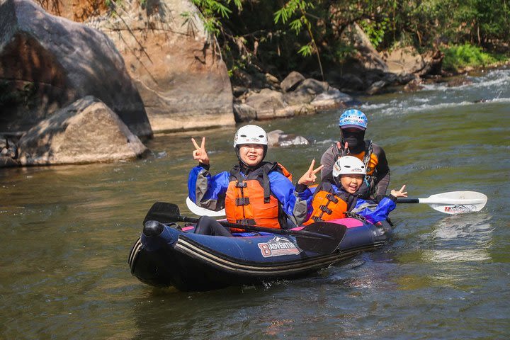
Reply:
<svg viewBox="0 0 510 340"><path fill-rule="evenodd" d="M44 6L0 4L0 166L140 157L147 149L139 137L153 131L358 106L358 94L416 91L441 75L441 52L380 53L353 24L344 38L356 47L354 62L330 68L324 80L261 69L229 77L188 0Z"/></svg>

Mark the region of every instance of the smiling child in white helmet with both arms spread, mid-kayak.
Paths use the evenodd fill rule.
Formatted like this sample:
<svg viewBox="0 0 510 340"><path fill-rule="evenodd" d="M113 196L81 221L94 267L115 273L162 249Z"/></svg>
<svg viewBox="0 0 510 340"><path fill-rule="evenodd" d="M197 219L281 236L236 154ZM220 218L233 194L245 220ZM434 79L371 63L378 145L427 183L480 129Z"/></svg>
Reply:
<svg viewBox="0 0 510 340"><path fill-rule="evenodd" d="M397 197L407 197L404 185L399 191L392 190L389 196L382 198L377 208L364 208L368 206L368 203L362 198L358 198L357 192L365 179L366 169L365 164L356 157L344 156L336 160L332 176L334 183L323 181L319 186L310 188L307 187L310 184L307 181L303 179L298 181L296 193L299 198L295 209L303 210L306 205L307 221L305 225L343 218L346 212L351 211L356 211L368 222L377 223L385 220L395 209Z"/></svg>

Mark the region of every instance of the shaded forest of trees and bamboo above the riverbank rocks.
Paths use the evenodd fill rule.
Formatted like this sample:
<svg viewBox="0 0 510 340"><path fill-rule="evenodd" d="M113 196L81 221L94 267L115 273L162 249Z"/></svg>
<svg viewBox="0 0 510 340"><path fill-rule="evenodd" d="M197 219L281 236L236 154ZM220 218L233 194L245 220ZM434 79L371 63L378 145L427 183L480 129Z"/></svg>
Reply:
<svg viewBox="0 0 510 340"><path fill-rule="evenodd" d="M443 69L502 60L510 41L507 0L193 0L216 35L229 73L252 68L284 77L327 72L356 58L342 38L357 23L382 54L441 50Z"/></svg>

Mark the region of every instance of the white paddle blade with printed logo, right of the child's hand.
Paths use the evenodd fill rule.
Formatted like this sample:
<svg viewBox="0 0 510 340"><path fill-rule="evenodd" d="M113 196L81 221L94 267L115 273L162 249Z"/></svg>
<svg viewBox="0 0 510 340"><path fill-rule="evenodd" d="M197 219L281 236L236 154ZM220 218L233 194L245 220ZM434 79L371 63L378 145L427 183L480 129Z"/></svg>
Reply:
<svg viewBox="0 0 510 340"><path fill-rule="evenodd" d="M487 203L487 196L475 191L452 191L420 198L419 201L429 204L437 211L453 215L482 210Z"/></svg>

